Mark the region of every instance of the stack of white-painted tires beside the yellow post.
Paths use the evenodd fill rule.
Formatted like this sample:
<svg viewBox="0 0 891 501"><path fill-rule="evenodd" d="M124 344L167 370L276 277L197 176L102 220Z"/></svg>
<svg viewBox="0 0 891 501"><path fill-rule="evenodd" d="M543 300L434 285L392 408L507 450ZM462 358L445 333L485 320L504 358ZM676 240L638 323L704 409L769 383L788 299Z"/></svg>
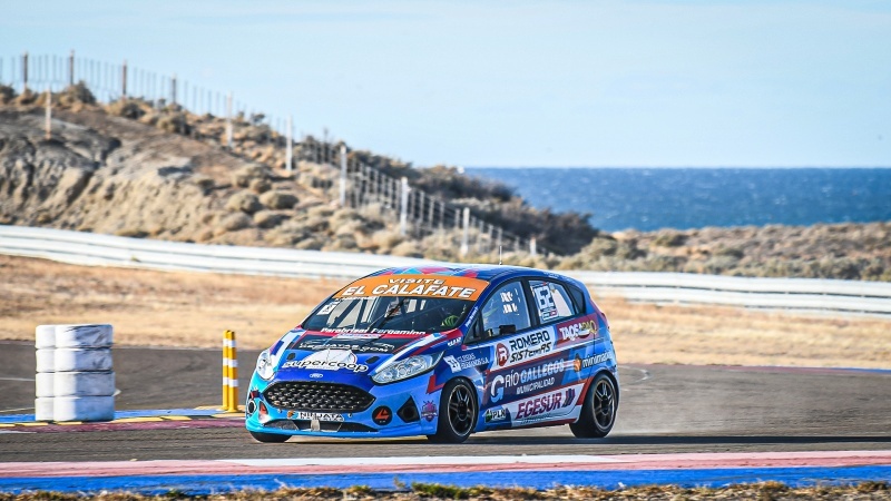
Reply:
<svg viewBox="0 0 891 501"><path fill-rule="evenodd" d="M39 325L35 334L35 420L114 420L111 325Z"/></svg>

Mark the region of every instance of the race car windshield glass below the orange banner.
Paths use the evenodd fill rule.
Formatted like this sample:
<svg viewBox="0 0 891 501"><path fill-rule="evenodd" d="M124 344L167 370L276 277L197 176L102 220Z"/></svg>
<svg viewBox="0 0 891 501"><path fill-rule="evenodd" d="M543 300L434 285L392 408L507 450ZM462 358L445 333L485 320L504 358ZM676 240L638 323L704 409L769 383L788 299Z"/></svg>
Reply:
<svg viewBox="0 0 891 501"><path fill-rule="evenodd" d="M306 318L317 332L412 334L450 331L463 322L472 301L417 296L332 297Z"/></svg>

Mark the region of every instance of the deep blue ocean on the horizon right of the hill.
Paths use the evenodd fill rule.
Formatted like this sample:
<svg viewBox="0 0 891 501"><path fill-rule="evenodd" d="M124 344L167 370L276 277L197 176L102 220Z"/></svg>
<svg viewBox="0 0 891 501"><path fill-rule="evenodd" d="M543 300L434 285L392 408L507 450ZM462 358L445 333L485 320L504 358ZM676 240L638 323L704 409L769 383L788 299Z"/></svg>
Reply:
<svg viewBox="0 0 891 501"><path fill-rule="evenodd" d="M590 214L596 228L891 220L891 168L467 167L527 203Z"/></svg>

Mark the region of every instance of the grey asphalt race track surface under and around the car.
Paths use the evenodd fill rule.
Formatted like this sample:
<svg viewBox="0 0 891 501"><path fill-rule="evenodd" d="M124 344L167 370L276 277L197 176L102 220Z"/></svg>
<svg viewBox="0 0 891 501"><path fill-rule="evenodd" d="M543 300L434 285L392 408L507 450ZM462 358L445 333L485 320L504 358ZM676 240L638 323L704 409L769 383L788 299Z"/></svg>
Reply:
<svg viewBox="0 0 891 501"><path fill-rule="evenodd" d="M243 391L256 355L238 354ZM116 347L117 410L215 404L221 358L215 350ZM33 412L33 346L0 343L0 419ZM891 450L891 371L628 364L620 377L617 425L604 440L558 426L481 433L461 445L423 438L260 444L236 415L0 428L0 462Z"/></svg>

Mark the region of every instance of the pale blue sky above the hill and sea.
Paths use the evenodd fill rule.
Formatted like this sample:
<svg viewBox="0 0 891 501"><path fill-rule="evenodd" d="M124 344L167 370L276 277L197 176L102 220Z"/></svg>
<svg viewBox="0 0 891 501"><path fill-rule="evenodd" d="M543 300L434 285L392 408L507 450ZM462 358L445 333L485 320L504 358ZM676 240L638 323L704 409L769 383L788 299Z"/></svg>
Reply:
<svg viewBox="0 0 891 501"><path fill-rule="evenodd" d="M891 166L891 2L3 2L0 57L176 73L415 166Z"/></svg>

